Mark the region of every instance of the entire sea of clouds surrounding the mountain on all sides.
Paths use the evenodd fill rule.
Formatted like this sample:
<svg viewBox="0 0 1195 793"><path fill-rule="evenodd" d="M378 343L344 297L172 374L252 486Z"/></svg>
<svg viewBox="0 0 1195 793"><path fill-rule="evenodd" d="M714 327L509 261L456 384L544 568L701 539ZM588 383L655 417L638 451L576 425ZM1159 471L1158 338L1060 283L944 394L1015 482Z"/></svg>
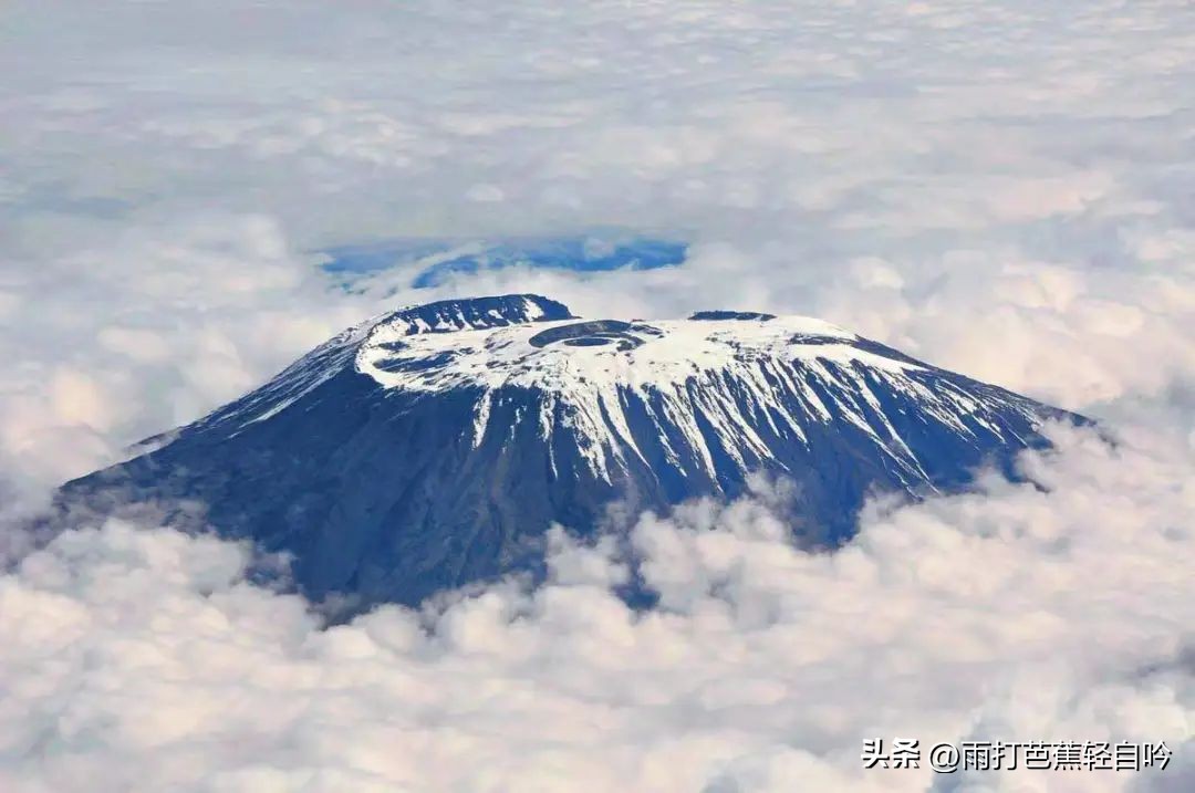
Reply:
<svg viewBox="0 0 1195 793"><path fill-rule="evenodd" d="M325 631L246 548L85 527L0 580L0 788L1195 786L1189 2L18 1L0 41L2 555L63 479L452 295L808 313L1120 437L833 555L766 488L644 516L645 615L565 535L539 590ZM347 293L314 253L592 228L690 258ZM1177 754L865 774L897 733Z"/></svg>

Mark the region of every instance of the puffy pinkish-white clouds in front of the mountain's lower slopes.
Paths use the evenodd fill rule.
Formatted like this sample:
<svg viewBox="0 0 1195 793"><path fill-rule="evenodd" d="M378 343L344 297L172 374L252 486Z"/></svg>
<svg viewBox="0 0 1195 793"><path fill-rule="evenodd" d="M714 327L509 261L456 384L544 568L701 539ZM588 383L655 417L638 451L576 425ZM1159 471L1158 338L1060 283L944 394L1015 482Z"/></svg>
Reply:
<svg viewBox="0 0 1195 793"><path fill-rule="evenodd" d="M789 545L767 491L644 516L632 542L661 594L645 613L609 590L613 543L563 533L545 586L329 629L245 583L240 546L115 522L67 533L0 582L0 782L921 791L925 768L864 772L862 738L1189 751L1195 455L1148 434L1059 444L1025 461L1036 486L877 504L833 554ZM1193 781L1175 760L943 789Z"/></svg>

